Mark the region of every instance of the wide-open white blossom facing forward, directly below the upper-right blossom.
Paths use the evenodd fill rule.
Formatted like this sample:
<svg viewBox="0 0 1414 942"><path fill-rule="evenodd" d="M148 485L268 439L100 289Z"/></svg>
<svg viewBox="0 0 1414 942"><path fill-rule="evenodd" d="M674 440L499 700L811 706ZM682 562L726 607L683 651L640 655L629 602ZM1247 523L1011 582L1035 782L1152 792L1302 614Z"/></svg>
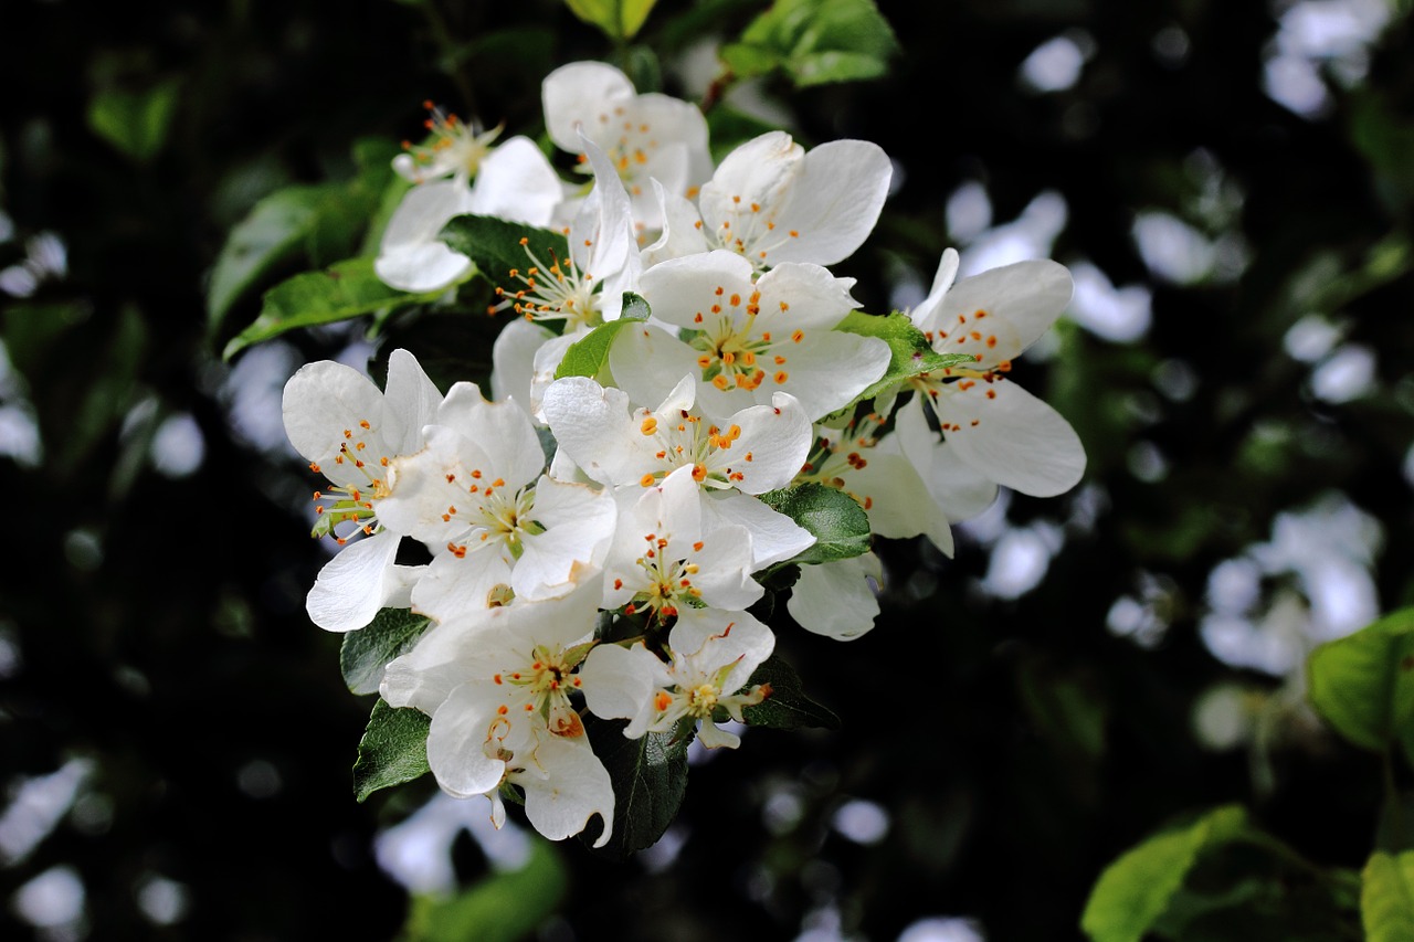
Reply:
<svg viewBox="0 0 1414 942"><path fill-rule="evenodd" d="M643 273L639 291L653 317L684 331L684 339L648 324L622 331L609 368L639 402L656 400L666 383L690 372L711 416L788 392L812 420L822 419L889 364L884 341L831 330L858 307L853 284L800 263L754 280L751 264L724 250L665 262Z"/></svg>

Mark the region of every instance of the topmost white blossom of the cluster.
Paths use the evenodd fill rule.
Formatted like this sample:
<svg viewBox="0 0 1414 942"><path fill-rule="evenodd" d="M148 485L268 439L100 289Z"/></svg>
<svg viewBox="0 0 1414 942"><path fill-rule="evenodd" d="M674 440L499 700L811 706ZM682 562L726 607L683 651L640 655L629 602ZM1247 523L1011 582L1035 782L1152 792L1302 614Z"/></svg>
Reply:
<svg viewBox="0 0 1414 942"><path fill-rule="evenodd" d="M686 197L711 174L707 122L697 106L667 95L638 95L612 65L563 65L546 76L542 98L550 140L571 154L584 154L583 132L601 147L624 180L633 218L643 229L662 226L649 180Z"/></svg>

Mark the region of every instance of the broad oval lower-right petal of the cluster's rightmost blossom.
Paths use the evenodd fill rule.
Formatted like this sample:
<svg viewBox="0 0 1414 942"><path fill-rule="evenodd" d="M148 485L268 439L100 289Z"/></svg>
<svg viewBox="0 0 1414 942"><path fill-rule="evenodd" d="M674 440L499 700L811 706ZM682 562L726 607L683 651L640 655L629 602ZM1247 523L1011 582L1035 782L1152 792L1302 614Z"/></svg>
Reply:
<svg viewBox="0 0 1414 942"><path fill-rule="evenodd" d="M1085 474L1085 447L1070 423L1012 382L977 382L966 390L953 383L933 409L957 457L997 484L1055 496Z"/></svg>

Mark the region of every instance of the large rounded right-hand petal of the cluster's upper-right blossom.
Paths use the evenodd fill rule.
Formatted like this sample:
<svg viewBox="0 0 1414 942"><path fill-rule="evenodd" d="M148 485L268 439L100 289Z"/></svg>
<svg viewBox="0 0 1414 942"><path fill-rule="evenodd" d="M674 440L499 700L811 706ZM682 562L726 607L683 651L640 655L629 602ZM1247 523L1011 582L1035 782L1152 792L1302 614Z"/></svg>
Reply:
<svg viewBox="0 0 1414 942"><path fill-rule="evenodd" d="M834 264L854 255L878 222L894 168L878 144L834 140L805 156L776 226L799 232L772 249L769 264Z"/></svg>

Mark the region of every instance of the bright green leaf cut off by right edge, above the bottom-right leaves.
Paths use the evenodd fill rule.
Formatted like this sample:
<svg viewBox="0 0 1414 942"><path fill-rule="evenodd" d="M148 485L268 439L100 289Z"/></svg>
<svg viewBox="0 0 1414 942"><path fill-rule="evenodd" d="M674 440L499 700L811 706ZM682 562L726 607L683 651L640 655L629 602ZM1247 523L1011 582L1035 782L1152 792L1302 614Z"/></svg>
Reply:
<svg viewBox="0 0 1414 942"><path fill-rule="evenodd" d="M1414 608L1312 651L1307 696L1355 745L1380 752L1400 738L1414 754Z"/></svg>

